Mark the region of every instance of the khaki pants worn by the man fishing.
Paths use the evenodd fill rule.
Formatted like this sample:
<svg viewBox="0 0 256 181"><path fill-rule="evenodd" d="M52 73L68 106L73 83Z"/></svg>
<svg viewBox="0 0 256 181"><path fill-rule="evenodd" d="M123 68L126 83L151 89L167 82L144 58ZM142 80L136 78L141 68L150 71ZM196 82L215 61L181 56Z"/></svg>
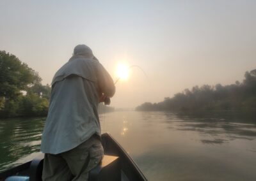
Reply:
<svg viewBox="0 0 256 181"><path fill-rule="evenodd" d="M104 155L97 136L92 136L81 145L61 154L45 154L42 179L88 180L89 171L95 168Z"/></svg>

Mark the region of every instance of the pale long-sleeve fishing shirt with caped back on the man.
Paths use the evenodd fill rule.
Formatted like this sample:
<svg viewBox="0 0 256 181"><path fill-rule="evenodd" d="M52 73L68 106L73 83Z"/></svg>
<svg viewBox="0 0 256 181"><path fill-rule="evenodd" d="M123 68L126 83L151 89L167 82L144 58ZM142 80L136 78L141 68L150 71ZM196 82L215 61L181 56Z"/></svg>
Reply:
<svg viewBox="0 0 256 181"><path fill-rule="evenodd" d="M63 65L52 80L42 152L59 154L77 147L95 133L100 136L97 107L102 93L112 97L115 85L98 61L76 56Z"/></svg>

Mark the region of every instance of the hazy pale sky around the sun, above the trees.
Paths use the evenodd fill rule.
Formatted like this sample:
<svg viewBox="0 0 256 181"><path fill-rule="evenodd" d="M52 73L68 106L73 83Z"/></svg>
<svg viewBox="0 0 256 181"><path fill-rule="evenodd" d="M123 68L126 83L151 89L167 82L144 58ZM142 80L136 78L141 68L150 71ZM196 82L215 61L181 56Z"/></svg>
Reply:
<svg viewBox="0 0 256 181"><path fill-rule="evenodd" d="M43 83L86 44L116 80L112 106L159 102L194 85L242 81L256 68L256 1L0 1L0 50Z"/></svg>

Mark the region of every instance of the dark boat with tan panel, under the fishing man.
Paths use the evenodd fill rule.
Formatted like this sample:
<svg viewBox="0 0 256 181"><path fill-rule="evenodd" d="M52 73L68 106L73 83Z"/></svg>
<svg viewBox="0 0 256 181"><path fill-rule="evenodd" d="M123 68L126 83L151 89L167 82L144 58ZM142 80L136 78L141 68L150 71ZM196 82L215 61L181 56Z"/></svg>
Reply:
<svg viewBox="0 0 256 181"><path fill-rule="evenodd" d="M104 157L102 162L90 171L90 181L147 180L129 154L109 133L102 134L102 146L104 147ZM44 154L41 153L27 163L0 173L0 181L6 178L9 180L15 180L16 178L22 180L24 178L23 180L40 181L42 180L43 164Z"/></svg>

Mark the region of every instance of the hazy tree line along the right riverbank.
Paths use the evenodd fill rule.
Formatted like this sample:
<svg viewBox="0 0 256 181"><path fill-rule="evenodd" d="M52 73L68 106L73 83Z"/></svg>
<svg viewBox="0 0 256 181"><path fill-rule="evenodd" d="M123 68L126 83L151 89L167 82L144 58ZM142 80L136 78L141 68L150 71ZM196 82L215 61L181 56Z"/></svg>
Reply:
<svg viewBox="0 0 256 181"><path fill-rule="evenodd" d="M231 85L195 86L159 103L143 103L138 111L204 112L209 110L250 111L256 113L256 69L246 71L243 82Z"/></svg>

